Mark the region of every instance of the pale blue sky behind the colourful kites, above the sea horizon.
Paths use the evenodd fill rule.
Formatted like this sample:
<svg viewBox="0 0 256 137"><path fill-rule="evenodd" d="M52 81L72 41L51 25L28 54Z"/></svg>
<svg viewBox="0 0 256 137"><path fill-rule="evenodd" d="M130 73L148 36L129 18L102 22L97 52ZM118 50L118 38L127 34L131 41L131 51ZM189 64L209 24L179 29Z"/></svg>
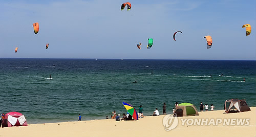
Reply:
<svg viewBox="0 0 256 137"><path fill-rule="evenodd" d="M120 10L125 2L130 11ZM0 58L256 60L255 7L254 0L0 1Z"/></svg>

